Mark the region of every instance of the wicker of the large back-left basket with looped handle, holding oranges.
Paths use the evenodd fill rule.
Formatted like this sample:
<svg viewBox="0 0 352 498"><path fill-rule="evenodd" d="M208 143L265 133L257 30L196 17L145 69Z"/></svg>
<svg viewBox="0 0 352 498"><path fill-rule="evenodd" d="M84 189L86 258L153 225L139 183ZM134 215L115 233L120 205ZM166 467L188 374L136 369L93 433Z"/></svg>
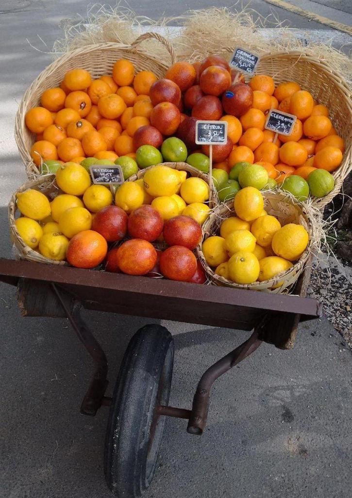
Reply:
<svg viewBox="0 0 352 498"><path fill-rule="evenodd" d="M162 62L153 57L152 53L138 48L138 45L149 38L155 38L165 45L171 63L176 61L176 55L172 45L158 33L145 33L139 36L131 45L120 43L99 43L88 45L68 52L50 64L33 81L26 90L19 105L15 118L15 140L20 156L25 164L29 179L36 178L40 171L34 164L30 149L35 142L35 134L29 131L25 124L25 115L29 109L40 106L42 93L48 88L57 87L63 80L65 73L74 68L83 68L90 72L92 78L98 78L103 74L111 74L112 66L120 58L129 59L135 66L136 71L150 70L159 78L164 77L170 61Z"/></svg>

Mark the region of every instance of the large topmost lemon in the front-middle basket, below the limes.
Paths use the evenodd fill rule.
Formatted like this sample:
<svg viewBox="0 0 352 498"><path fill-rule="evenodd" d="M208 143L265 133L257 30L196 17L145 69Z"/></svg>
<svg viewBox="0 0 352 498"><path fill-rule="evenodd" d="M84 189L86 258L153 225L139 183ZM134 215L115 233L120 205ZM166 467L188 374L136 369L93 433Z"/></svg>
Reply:
<svg viewBox="0 0 352 498"><path fill-rule="evenodd" d="M154 166L145 172L144 188L152 197L170 197L181 183L179 172L169 166Z"/></svg>

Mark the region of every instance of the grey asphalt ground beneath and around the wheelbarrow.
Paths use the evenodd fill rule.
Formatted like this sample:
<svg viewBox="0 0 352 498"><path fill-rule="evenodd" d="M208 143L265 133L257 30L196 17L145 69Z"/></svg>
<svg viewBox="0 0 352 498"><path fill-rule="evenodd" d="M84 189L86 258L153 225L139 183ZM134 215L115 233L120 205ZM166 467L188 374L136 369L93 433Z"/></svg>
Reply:
<svg viewBox="0 0 352 498"><path fill-rule="evenodd" d="M113 3L113 2L111 2ZM163 2L167 15L210 1ZM223 1L230 6L233 1ZM299 2L293 2L299 4ZM323 6L349 22L349 2ZM159 2L130 1L140 14L159 17ZM51 46L63 17L84 15L87 1L2 0L0 74L0 254L9 257L6 205L25 180L13 140L21 95L50 62L26 42L38 33ZM252 7L267 15L264 1ZM331 7L334 7L332 9ZM292 27L326 27L277 9ZM350 11L351 19L351 11ZM64 320L21 318L12 288L0 286L0 498L102 498L107 411L79 414L90 361ZM108 351L111 392L124 349L147 321L85 312ZM150 322L150 320L148 320ZM243 341L243 332L164 323L176 341L171 403L190 407L192 390L214 359ZM168 420L160 469L147 498L351 496L352 358L341 336L323 318L303 324L293 351L262 346L215 385L209 424L201 438L185 422Z"/></svg>

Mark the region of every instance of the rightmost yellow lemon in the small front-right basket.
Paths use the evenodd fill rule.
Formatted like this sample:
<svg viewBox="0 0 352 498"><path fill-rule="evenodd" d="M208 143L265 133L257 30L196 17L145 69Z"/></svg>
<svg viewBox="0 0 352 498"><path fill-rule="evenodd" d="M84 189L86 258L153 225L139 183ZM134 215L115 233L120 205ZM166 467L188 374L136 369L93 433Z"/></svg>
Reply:
<svg viewBox="0 0 352 498"><path fill-rule="evenodd" d="M272 238L271 247L276 256L295 261L308 246L309 235L302 225L289 223L280 228Z"/></svg>

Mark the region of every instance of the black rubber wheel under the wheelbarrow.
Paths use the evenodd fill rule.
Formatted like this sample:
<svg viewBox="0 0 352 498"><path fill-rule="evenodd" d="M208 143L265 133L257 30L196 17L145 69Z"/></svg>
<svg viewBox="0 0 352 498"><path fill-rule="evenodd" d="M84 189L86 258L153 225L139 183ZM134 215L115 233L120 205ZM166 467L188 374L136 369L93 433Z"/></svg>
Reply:
<svg viewBox="0 0 352 498"><path fill-rule="evenodd" d="M169 402L174 341L161 325L132 337L112 396L106 430L104 473L116 497L139 497L150 485L164 431L157 407Z"/></svg>

